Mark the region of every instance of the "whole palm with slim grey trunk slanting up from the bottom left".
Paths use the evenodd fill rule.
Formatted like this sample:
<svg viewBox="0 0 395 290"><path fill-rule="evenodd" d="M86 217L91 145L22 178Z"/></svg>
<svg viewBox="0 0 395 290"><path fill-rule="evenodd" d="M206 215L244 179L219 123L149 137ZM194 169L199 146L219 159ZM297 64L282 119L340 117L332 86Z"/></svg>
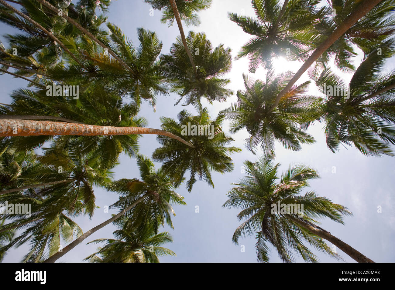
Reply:
<svg viewBox="0 0 395 290"><path fill-rule="evenodd" d="M148 158L141 155L137 156L137 158L141 180L137 178L121 179L109 187L109 190L121 194L119 201L113 204L113 207L123 208L123 210L85 232L71 244L64 247L62 252L55 253L44 262L55 262L88 236L109 223L124 217L125 214L137 224L144 225L149 223L156 225L156 230L160 223L167 223L173 227L171 214L175 215L175 213L171 204L185 204L183 197L174 191L175 185L172 177L169 177L162 169L154 170L154 164ZM145 221L145 223L141 223L141 220Z"/></svg>

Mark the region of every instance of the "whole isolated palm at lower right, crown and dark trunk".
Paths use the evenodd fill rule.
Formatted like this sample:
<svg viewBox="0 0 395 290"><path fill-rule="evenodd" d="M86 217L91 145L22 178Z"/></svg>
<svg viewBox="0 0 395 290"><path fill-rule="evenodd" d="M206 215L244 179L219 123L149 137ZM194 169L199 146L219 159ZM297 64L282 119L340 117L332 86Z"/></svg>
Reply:
<svg viewBox="0 0 395 290"><path fill-rule="evenodd" d="M306 165L291 165L279 178L277 169L280 164L274 164L267 156L255 163L246 161L244 165L246 177L234 184L223 206L242 209L237 217L244 222L233 234L233 242L237 244L240 237L256 232L259 262L269 261L269 244L273 245L284 262L293 262L292 251L305 261L317 262L316 256L303 244L303 240L315 249L339 259L324 239L357 262L373 262L316 225L318 222L314 219L318 217L328 217L343 223L343 215L351 215L351 212L340 204L317 196L314 191L301 194L309 186L310 179L319 177L314 169Z"/></svg>

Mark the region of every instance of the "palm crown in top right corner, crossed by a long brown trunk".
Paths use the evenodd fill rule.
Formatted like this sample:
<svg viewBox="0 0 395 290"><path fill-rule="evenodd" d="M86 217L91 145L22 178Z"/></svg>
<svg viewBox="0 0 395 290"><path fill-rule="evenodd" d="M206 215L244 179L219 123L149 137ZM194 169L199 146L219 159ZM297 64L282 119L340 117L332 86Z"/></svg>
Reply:
<svg viewBox="0 0 395 290"><path fill-rule="evenodd" d="M316 46L348 19L361 1L331 0L328 2L332 13L314 25L318 32L318 37L314 39ZM320 67L327 67L331 58L334 57L334 63L339 69L348 72L355 71L352 61L352 58L357 55L355 45L366 54L370 53L372 47L380 45L390 37L395 31L394 11L393 0L381 1L325 50L317 59L316 64Z"/></svg>

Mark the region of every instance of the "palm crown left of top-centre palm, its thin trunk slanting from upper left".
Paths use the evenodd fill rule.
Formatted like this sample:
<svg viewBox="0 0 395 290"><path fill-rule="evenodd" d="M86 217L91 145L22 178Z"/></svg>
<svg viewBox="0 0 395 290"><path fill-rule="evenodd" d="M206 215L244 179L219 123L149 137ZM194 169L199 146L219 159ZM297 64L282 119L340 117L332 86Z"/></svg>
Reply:
<svg viewBox="0 0 395 290"><path fill-rule="evenodd" d="M162 50L162 42L158 35L144 28L137 29L139 46L134 46L114 24L107 23L111 31L109 48L122 59L134 73L121 68L119 63L108 56L100 55L98 67L105 75L104 80L113 82L111 89L114 93L126 96L139 106L141 100L147 100L155 110L156 96L165 95L167 88L162 73L162 63L158 59Z"/></svg>

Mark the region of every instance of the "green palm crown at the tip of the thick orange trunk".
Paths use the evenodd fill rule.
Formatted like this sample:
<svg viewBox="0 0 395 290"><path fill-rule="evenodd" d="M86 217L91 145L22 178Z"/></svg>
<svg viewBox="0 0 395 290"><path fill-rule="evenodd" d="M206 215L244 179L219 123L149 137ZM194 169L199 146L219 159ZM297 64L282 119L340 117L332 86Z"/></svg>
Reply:
<svg viewBox="0 0 395 290"><path fill-rule="evenodd" d="M189 171L190 178L186 182L188 191L192 191L196 175L214 187L212 171L225 173L233 170L229 154L240 152L241 149L226 147L233 139L222 131L223 117L211 120L207 108L203 108L197 116L183 110L178 114L178 121L165 117L161 120L163 130L184 138L194 146L191 148L166 136L157 137L162 147L154 151L152 158L164 162L163 170L175 178L177 185L181 184L184 174Z"/></svg>

